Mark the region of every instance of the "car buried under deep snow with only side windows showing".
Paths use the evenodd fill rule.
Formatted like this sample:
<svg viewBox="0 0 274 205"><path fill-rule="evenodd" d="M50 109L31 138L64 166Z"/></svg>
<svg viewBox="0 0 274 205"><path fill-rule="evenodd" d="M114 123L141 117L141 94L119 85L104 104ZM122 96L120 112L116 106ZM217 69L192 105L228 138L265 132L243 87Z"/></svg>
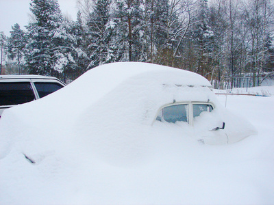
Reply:
<svg viewBox="0 0 274 205"><path fill-rule="evenodd" d="M175 120L160 115L167 107ZM186 113L184 120L178 120L179 110ZM12 107L3 113L0 129L3 136L15 137L16 143L25 138L32 141L24 153L30 153L28 149L51 150L62 141L77 139L102 157L108 156L108 150L128 157L127 153L134 153L155 137L225 144L256 134L247 120L219 103L206 78L137 62L92 68L58 92ZM23 136L16 132L22 129Z"/></svg>

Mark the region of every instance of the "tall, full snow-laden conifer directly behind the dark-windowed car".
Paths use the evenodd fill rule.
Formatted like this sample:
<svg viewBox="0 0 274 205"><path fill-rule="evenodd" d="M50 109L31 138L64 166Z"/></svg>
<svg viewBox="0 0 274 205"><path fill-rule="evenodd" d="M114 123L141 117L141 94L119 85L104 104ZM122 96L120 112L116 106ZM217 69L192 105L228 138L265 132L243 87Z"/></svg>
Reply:
<svg viewBox="0 0 274 205"><path fill-rule="evenodd" d="M64 21L57 0L32 0L30 10L36 22L27 26L27 66L31 74L62 77L75 61L71 49L75 38Z"/></svg>

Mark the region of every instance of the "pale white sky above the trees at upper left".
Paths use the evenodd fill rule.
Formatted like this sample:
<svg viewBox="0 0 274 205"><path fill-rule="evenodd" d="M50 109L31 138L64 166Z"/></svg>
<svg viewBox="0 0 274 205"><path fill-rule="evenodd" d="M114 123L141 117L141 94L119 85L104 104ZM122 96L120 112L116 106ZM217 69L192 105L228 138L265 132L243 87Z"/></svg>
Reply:
<svg viewBox="0 0 274 205"><path fill-rule="evenodd" d="M69 14L73 20L76 20L77 0L58 0L63 14ZM0 32L3 31L6 36L10 36L12 26L18 23L21 29L25 30L25 25L29 23L29 3L31 0L0 0Z"/></svg>

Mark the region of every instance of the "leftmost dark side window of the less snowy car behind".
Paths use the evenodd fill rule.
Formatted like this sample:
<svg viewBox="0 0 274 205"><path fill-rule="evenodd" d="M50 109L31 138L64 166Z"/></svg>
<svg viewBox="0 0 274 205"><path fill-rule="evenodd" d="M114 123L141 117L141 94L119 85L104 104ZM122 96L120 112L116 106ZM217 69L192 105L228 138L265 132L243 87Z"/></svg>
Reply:
<svg viewBox="0 0 274 205"><path fill-rule="evenodd" d="M34 99L29 82L0 83L0 105L18 105Z"/></svg>

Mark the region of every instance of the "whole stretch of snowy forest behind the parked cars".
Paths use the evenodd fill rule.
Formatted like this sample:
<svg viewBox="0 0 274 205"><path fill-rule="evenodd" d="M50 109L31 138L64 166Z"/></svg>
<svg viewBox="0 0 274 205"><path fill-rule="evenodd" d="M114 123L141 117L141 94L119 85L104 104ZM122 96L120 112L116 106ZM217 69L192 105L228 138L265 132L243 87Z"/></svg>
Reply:
<svg viewBox="0 0 274 205"><path fill-rule="evenodd" d="M75 0L76 1L76 0ZM142 61L197 72L214 87L274 74L271 0L32 0L31 22L0 33L1 70L71 81L95 66Z"/></svg>

